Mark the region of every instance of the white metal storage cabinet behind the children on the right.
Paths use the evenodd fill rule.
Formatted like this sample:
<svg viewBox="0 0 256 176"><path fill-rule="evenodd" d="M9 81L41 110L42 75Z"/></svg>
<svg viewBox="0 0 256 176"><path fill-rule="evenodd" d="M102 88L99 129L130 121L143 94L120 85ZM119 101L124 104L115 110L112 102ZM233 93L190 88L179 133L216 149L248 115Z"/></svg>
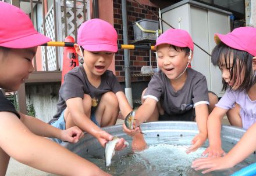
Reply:
<svg viewBox="0 0 256 176"><path fill-rule="evenodd" d="M199 2L184 0L161 10L162 19L175 28L190 33L194 43L211 54L216 45L214 34L230 32L230 12L217 9ZM179 24L179 19L181 19ZM162 23L163 32L170 27ZM194 57L191 67L207 78L208 90L222 97L222 76L218 67L211 63L211 57L194 45Z"/></svg>

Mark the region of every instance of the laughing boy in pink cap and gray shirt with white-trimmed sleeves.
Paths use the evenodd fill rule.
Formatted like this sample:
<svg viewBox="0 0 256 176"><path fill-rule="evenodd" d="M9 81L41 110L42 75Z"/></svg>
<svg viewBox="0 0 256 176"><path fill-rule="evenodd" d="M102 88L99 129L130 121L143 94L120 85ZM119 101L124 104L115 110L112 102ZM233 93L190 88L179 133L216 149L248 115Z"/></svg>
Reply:
<svg viewBox="0 0 256 176"><path fill-rule="evenodd" d="M158 38L155 48L161 70L142 94L144 102L135 114L136 124L145 120L195 120L200 133L193 138L193 145L187 153L195 151L207 140L208 105L211 111L218 97L213 93L208 95L204 75L188 68L193 59L194 44L187 31L167 30ZM133 135L134 131L123 128L127 134ZM143 137L136 134L136 138ZM143 142L134 142L134 145L143 146Z"/></svg>

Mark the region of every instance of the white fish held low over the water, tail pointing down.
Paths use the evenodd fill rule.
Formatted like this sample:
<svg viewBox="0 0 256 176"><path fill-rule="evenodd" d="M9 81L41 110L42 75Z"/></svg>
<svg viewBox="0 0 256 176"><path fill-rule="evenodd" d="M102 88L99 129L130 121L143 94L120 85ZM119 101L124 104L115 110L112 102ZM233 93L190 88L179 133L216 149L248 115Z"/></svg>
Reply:
<svg viewBox="0 0 256 176"><path fill-rule="evenodd" d="M105 147L105 160L106 160L106 166L110 166L111 164L111 159L112 157L115 155L115 146L116 143L118 143L120 140L120 138L118 137L113 137L112 141L108 141L106 143L106 147ZM129 145L129 143L127 141L125 141L125 145Z"/></svg>

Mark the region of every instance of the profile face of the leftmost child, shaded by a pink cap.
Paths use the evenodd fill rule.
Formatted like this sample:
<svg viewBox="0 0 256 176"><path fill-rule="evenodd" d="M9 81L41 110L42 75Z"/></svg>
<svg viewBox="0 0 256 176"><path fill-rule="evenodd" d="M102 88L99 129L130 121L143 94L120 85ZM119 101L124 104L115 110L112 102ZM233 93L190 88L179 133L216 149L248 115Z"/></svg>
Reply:
<svg viewBox="0 0 256 176"><path fill-rule="evenodd" d="M37 47L28 49L3 49L0 47L0 87L16 91L34 71L33 57Z"/></svg>

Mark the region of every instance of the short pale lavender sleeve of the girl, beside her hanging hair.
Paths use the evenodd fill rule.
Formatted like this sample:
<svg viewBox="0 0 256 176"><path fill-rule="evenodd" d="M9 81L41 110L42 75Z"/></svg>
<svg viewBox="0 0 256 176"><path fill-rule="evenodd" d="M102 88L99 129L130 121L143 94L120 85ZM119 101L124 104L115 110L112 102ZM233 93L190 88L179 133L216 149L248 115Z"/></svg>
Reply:
<svg viewBox="0 0 256 176"><path fill-rule="evenodd" d="M227 90L221 97L221 100L216 104L216 107L222 109L233 109L236 102L236 91Z"/></svg>

